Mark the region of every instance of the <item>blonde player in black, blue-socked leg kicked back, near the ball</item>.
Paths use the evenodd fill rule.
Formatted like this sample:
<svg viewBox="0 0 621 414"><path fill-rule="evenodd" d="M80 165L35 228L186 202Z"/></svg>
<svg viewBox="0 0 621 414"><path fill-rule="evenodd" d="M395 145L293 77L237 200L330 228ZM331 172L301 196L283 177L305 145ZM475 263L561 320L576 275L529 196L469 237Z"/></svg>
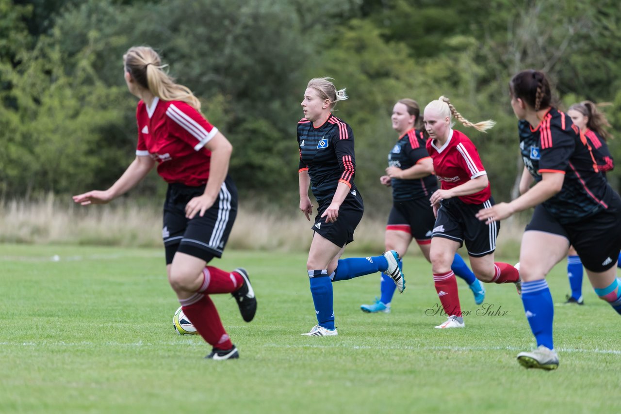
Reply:
<svg viewBox="0 0 621 414"><path fill-rule="evenodd" d="M330 78L311 79L301 105L304 118L297 124L300 151L300 210L311 220L309 185L317 199L317 216L312 230L306 268L311 283L317 325L302 335L337 335L334 326L332 282L378 271L388 273L399 292L405 280L399 269L399 254L391 250L381 256L340 259L363 214L360 192L353 184L356 158L353 132L332 115L338 101L347 99L345 89L337 91Z"/></svg>

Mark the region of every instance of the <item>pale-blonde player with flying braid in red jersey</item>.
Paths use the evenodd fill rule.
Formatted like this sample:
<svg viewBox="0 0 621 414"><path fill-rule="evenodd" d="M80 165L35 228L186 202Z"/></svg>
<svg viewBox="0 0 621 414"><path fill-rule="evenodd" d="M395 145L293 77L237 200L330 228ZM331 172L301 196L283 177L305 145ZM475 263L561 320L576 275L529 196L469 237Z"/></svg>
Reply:
<svg viewBox="0 0 621 414"><path fill-rule="evenodd" d="M466 245L470 266L479 280L519 284L519 272L514 266L494 262L500 226L476 218L479 210L494 205L494 199L476 146L465 134L451 128L453 116L466 127L478 131L485 131L495 124L491 120L472 124L443 96L425 107L423 119L429 134L427 151L441 183L440 189L430 197L437 217L430 250L433 281L448 316L446 322L436 326L439 329L465 326L457 282L451 270L451 263L461 245Z"/></svg>

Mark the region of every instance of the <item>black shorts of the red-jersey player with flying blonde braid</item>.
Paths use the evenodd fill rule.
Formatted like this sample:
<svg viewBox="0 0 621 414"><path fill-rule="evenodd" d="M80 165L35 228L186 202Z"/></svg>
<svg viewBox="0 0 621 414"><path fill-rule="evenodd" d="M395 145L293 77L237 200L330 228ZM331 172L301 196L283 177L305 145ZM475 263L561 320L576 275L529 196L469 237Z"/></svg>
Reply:
<svg viewBox="0 0 621 414"><path fill-rule="evenodd" d="M475 216L479 210L496 204L492 197L483 204L466 204L457 197L442 200L440 204L432 238L455 240L460 243L460 247L465 243L468 255L475 258L494 253L501 223L486 224Z"/></svg>

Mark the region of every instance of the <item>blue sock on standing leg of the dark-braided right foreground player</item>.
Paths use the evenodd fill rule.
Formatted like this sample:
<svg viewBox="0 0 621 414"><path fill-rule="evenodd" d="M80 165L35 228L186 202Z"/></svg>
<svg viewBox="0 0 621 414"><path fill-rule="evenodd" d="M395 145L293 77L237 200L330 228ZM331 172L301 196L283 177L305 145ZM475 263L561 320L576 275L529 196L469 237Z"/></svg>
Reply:
<svg viewBox="0 0 621 414"><path fill-rule="evenodd" d="M533 331L537 340L537 346L543 345L554 349L552 341L554 304L548 282L545 279L522 282L522 303L530 324L530 330Z"/></svg>

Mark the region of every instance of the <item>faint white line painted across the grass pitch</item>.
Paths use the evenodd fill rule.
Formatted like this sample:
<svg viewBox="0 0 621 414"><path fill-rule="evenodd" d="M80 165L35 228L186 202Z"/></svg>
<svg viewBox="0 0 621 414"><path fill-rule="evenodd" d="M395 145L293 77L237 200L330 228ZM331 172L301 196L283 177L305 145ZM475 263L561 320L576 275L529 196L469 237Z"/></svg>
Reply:
<svg viewBox="0 0 621 414"><path fill-rule="evenodd" d="M205 346L203 341L197 341L198 338L179 338L178 341L172 342L158 342L148 343L138 341L134 343L120 343L120 342L64 342L64 341L40 341L40 342L0 342L0 346L59 346L59 347L80 347L80 346L121 346L121 347L157 347L157 346ZM250 345L252 346L252 345ZM261 348L350 348L350 349L404 349L409 351L524 351L524 347L519 348L517 346L358 346L358 345L345 345L345 344L263 344ZM561 353L594 353L594 354L613 354L621 355L621 350L618 349L579 349L579 348L556 348L556 351Z"/></svg>

